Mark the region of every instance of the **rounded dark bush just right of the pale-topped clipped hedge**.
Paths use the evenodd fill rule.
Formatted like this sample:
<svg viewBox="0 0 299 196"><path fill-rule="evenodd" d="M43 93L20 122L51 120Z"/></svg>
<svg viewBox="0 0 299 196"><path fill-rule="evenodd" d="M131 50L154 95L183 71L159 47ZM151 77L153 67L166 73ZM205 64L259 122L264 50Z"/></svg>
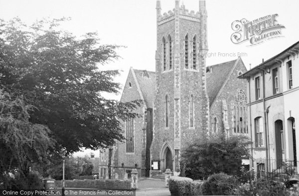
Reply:
<svg viewBox="0 0 299 196"><path fill-rule="evenodd" d="M201 186L201 193L204 196L230 196L238 187L235 177L224 173L211 175Z"/></svg>

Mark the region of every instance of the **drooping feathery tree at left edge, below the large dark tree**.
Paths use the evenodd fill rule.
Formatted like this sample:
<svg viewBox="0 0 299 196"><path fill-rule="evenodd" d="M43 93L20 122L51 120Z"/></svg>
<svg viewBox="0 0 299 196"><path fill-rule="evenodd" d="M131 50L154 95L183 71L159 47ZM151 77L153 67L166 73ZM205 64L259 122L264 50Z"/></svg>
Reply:
<svg viewBox="0 0 299 196"><path fill-rule="evenodd" d="M1 182L6 183L13 173L19 180L29 180L31 163L41 163L54 145L48 127L29 122L29 112L33 109L32 105L24 104L22 97L11 97L0 90Z"/></svg>

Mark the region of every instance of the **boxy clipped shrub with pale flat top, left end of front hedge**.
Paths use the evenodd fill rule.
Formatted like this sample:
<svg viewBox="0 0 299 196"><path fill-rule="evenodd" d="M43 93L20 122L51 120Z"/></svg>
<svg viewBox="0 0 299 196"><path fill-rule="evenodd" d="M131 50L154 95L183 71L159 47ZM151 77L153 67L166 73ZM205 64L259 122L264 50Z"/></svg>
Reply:
<svg viewBox="0 0 299 196"><path fill-rule="evenodd" d="M168 187L171 196L190 196L191 195L191 183L190 178L175 177L169 178Z"/></svg>

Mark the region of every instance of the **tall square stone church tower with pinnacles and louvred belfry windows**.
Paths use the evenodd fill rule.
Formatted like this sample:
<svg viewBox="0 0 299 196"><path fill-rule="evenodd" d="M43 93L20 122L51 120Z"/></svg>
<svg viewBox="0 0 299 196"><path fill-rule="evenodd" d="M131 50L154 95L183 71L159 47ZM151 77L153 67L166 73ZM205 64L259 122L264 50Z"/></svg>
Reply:
<svg viewBox="0 0 299 196"><path fill-rule="evenodd" d="M175 0L175 8L161 14L161 4L157 0L156 17L156 95L151 174L166 168L175 174L180 171L181 150L208 132L205 1L199 0L199 10L195 12Z"/></svg>

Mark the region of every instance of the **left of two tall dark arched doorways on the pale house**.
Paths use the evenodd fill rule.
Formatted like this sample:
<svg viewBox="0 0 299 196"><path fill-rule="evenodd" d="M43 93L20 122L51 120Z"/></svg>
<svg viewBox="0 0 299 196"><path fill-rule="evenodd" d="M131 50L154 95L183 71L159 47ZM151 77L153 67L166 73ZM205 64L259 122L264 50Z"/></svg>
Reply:
<svg viewBox="0 0 299 196"><path fill-rule="evenodd" d="M283 151L285 149L283 121L275 121L275 143L276 143L276 160L277 168L283 165Z"/></svg>

